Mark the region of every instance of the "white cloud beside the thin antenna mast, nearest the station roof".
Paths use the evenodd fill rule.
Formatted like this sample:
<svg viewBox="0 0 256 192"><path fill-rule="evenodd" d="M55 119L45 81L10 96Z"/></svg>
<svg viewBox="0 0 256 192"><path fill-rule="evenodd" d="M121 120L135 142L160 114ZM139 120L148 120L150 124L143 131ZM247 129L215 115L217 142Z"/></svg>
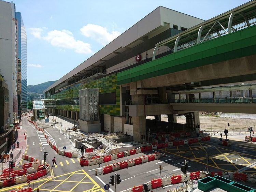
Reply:
<svg viewBox="0 0 256 192"><path fill-rule="evenodd" d="M108 30L104 27L94 24L87 24L83 26L80 31L86 37L94 39L101 43L102 45L106 45L113 40L112 32L109 33ZM119 31L114 31L114 39L117 38L121 33Z"/></svg>

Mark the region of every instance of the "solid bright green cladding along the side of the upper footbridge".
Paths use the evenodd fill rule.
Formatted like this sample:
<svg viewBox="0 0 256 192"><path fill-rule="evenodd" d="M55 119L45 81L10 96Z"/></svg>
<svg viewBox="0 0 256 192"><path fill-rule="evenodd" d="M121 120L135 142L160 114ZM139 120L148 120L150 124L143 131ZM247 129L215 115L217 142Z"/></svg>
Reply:
<svg viewBox="0 0 256 192"><path fill-rule="evenodd" d="M256 26L205 41L117 73L117 84L256 54Z"/></svg>

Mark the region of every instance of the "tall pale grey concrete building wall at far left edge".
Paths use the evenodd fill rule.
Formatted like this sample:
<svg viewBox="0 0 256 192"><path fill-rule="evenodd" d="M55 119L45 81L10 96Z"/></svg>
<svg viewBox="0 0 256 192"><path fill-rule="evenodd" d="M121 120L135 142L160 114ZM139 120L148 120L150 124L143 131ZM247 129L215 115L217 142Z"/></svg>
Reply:
<svg viewBox="0 0 256 192"><path fill-rule="evenodd" d="M0 1L0 69L10 94L9 111L13 117L13 98L16 92L16 27L11 3ZM17 98L16 98L17 99ZM13 118L10 118L13 123Z"/></svg>

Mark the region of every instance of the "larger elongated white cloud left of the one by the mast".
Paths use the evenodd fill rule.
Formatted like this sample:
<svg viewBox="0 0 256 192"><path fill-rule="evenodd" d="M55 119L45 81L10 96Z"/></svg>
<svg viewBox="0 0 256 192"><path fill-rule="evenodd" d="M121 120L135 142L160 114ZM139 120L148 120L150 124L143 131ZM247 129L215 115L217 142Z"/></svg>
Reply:
<svg viewBox="0 0 256 192"><path fill-rule="evenodd" d="M52 30L42 36L42 28L31 28L31 34L36 38L46 40L53 46L59 48L74 49L76 53L91 54L91 45L80 40L75 40L71 31L68 30Z"/></svg>

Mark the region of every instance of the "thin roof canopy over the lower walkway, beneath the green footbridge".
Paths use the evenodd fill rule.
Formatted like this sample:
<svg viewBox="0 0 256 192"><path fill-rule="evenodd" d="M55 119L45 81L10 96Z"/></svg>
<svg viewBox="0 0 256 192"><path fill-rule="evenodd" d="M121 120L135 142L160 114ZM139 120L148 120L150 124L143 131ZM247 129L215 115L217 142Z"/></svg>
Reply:
<svg viewBox="0 0 256 192"><path fill-rule="evenodd" d="M237 91L237 90L246 90L246 89L256 89L256 84L205 87L205 88L186 89L186 90L171 91L171 92L186 94L186 93L202 93L202 92L214 92L214 91Z"/></svg>

